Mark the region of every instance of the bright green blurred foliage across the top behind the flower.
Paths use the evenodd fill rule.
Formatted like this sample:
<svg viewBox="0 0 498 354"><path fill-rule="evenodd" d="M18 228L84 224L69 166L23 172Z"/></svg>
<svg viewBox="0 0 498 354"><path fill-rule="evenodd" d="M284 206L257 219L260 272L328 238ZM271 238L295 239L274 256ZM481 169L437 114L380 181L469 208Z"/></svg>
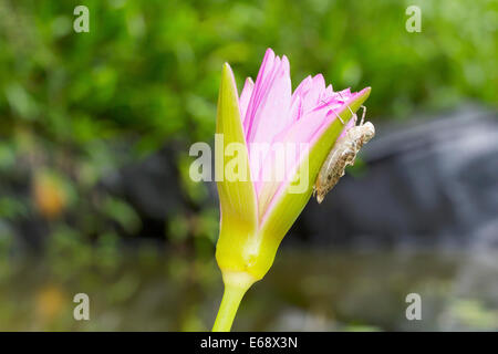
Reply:
<svg viewBox="0 0 498 354"><path fill-rule="evenodd" d="M90 33L73 30L81 3ZM421 33L405 30L408 4L421 7ZM125 201L89 196L120 166L175 140L179 184L201 206L207 194L189 180L186 154L212 138L222 62L240 86L271 46L289 56L294 86L319 72L335 88L372 86L376 122L468 100L496 106L497 10L486 0L3 0L0 171L30 179L53 169L71 191L49 192L62 209L85 210L85 225L102 212L133 233L139 220ZM27 174L13 177L14 167ZM3 195L3 217L29 214L29 196Z"/></svg>

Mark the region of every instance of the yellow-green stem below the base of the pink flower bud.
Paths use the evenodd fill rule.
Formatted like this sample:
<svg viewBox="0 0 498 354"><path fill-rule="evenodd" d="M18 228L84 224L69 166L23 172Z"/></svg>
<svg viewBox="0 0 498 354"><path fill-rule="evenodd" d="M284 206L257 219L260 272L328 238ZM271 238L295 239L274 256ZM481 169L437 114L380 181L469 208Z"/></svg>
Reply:
<svg viewBox="0 0 498 354"><path fill-rule="evenodd" d="M252 285L253 280L248 280L245 273L235 273L229 277L224 274L224 298L219 305L212 332L230 332L240 301L246 291Z"/></svg>

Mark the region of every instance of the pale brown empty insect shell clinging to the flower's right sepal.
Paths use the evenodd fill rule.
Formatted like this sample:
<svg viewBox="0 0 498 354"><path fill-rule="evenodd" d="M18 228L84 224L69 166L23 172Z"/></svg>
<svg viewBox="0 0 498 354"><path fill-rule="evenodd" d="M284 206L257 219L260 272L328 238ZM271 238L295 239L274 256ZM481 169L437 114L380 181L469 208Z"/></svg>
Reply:
<svg viewBox="0 0 498 354"><path fill-rule="evenodd" d="M341 93L339 94L341 95ZM313 187L313 195L317 196L317 201L319 204L323 201L325 195L338 184L339 179L344 176L345 167L349 165L354 165L356 154L362 146L375 135L373 124L370 122L364 123L366 107L361 107L363 108L363 113L360 124L351 127L344 136L335 142L329 153L329 156L325 158L325 162L320 168L320 173ZM356 124L356 114L351 111L350 106L347 106L347 108L353 115L354 123ZM341 117L339 115L336 116L341 123L344 124Z"/></svg>

